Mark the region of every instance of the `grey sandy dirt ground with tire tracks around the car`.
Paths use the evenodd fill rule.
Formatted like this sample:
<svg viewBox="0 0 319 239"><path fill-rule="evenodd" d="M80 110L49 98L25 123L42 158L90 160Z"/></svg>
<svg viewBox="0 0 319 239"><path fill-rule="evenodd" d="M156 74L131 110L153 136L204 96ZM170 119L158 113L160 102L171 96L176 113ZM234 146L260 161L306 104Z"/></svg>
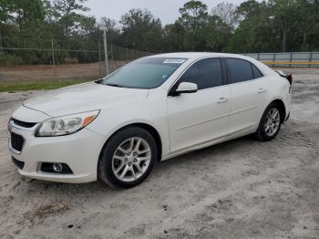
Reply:
<svg viewBox="0 0 319 239"><path fill-rule="evenodd" d="M276 140L161 162L127 191L18 175L6 121L32 94L0 94L0 238L319 238L319 70L289 70L292 116Z"/></svg>

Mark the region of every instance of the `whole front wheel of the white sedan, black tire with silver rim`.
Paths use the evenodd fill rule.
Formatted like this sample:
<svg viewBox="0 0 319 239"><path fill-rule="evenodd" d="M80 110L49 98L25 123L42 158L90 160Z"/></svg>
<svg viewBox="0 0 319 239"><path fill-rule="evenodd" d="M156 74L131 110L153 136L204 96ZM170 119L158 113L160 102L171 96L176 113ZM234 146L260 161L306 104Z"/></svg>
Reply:
<svg viewBox="0 0 319 239"><path fill-rule="evenodd" d="M138 146L139 145L139 146ZM119 130L104 145L98 160L98 180L112 188L131 188L146 180L157 161L157 145L147 130Z"/></svg>

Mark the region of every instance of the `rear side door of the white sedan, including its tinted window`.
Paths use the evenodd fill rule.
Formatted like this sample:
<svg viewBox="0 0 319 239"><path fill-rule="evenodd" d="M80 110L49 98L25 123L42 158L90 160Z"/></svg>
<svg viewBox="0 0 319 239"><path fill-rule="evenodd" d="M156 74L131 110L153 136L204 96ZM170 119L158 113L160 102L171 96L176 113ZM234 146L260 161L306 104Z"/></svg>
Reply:
<svg viewBox="0 0 319 239"><path fill-rule="evenodd" d="M251 62L225 58L231 89L230 133L250 131L258 125L269 90L269 81Z"/></svg>

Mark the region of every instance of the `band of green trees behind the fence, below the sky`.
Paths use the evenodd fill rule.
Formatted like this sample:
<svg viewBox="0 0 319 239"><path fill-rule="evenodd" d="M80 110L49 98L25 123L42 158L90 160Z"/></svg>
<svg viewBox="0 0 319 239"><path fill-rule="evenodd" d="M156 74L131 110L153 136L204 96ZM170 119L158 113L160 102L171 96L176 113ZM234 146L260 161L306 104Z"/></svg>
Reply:
<svg viewBox="0 0 319 239"><path fill-rule="evenodd" d="M52 44L64 49L55 51L56 64L98 61L98 54L90 51L102 48L104 29L109 44L151 53L319 50L319 0L247 0L211 10L190 0L167 26L146 9L131 9L119 24L108 17L97 20L83 14L89 10L86 2L0 0L0 65L53 64Z"/></svg>

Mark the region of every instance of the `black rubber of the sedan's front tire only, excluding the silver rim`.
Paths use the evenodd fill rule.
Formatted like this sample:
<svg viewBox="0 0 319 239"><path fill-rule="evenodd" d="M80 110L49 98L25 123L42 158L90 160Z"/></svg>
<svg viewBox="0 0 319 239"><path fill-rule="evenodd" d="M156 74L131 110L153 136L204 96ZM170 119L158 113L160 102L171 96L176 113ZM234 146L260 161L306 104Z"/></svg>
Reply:
<svg viewBox="0 0 319 239"><path fill-rule="evenodd" d="M128 140L132 137L139 137L149 143L151 151L149 168L137 181L122 182L118 180L112 170L112 159L114 152L118 149L118 146L124 140ZM149 176L155 161L157 161L157 145L153 137L147 130L139 127L128 127L123 130L119 130L105 144L98 160L98 179L102 182L108 183L108 185L113 188L131 188L139 185L139 183L143 182Z"/></svg>

